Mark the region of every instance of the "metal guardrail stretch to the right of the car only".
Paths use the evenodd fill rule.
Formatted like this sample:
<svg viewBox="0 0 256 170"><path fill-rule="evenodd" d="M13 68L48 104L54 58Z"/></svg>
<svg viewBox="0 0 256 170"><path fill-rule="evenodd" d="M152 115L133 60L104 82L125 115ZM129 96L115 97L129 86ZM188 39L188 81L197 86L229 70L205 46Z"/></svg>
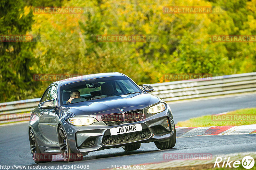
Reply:
<svg viewBox="0 0 256 170"><path fill-rule="evenodd" d="M200 80L151 84L152 95L166 102L256 91L256 72L216 76Z"/></svg>

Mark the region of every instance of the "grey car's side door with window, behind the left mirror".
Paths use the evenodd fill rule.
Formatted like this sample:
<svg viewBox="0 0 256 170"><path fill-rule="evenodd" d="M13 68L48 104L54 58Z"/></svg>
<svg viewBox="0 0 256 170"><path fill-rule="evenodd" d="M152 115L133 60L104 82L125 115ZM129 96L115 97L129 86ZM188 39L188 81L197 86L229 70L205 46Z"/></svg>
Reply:
<svg viewBox="0 0 256 170"><path fill-rule="evenodd" d="M57 88L51 86L46 100L56 99L54 105L57 106ZM46 147L54 148L59 147L56 113L58 109L41 109L41 118L39 123L39 131L44 137Z"/></svg>

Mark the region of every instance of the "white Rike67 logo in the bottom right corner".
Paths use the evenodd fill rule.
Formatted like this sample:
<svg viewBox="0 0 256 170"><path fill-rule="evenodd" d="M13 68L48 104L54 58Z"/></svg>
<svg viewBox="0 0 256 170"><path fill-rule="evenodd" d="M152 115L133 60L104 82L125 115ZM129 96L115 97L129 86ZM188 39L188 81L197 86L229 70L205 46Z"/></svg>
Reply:
<svg viewBox="0 0 256 170"><path fill-rule="evenodd" d="M215 160L215 163L214 163L214 168L216 167L220 167L221 165L221 162L222 162L222 158L221 157L217 157L216 160ZM220 165L219 165L220 163ZM231 168L232 166L234 168L237 168L239 167L240 165L242 164L242 166L245 168L245 169L251 169L253 166L254 166L254 159L251 157L251 156L245 156L243 159L242 159L242 162L240 160L230 160L230 157L228 157L228 159L225 157L224 160L223 160L223 163L222 163L222 168L225 167L229 167ZM225 166L226 165L226 166Z"/></svg>

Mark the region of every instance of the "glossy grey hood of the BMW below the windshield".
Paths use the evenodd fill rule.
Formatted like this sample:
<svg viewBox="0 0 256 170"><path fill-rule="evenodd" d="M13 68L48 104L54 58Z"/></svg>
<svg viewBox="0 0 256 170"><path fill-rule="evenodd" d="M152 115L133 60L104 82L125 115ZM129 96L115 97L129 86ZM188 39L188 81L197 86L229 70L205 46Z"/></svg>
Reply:
<svg viewBox="0 0 256 170"><path fill-rule="evenodd" d="M73 103L66 105L67 107L62 106L62 109L67 110L79 117L94 114L103 115L108 113L118 113L120 111L117 109L121 108L124 109L124 112L128 110L142 109L158 102L158 97L149 93L141 93Z"/></svg>

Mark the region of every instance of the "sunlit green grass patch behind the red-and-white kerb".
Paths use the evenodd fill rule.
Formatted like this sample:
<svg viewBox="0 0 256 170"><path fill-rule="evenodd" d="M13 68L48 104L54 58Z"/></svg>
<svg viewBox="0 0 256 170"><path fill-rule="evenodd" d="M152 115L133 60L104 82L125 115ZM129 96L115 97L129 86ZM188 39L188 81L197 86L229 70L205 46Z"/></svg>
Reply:
<svg viewBox="0 0 256 170"><path fill-rule="evenodd" d="M246 115L246 118L241 118L242 116ZM248 121L248 115L251 117L251 120ZM229 119L228 119L228 117ZM235 120L230 120L230 117L237 116ZM224 118L223 118L224 117ZM226 118L225 118L226 117ZM187 127L206 127L206 126L228 126L228 125L247 125L247 124L256 124L256 108L247 108L247 109L240 109L231 111L224 116L220 115L217 117L213 117L212 115L206 115L201 117L191 118L186 121L178 122L178 126L187 126ZM225 120L225 121L223 121Z"/></svg>

